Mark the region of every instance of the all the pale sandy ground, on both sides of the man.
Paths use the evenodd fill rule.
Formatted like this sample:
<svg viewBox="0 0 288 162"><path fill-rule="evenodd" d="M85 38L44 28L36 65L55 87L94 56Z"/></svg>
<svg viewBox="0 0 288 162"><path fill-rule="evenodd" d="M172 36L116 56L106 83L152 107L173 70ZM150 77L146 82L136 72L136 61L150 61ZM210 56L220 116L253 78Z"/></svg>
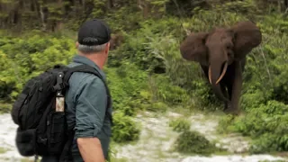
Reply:
<svg viewBox="0 0 288 162"><path fill-rule="evenodd" d="M141 123L142 129L140 139L134 144L116 146L116 157L126 158L131 162L260 162L275 161L283 158L272 157L270 155L254 155L242 157L236 155L247 149L248 142L238 135L230 135L220 138L218 146L228 148L229 152L235 155L200 157L183 156L172 151L178 133L168 127L168 121L172 118L181 117L180 114L168 112L166 115L155 117L152 113L138 115L136 121ZM207 139L219 139L215 129L218 124L216 117L207 118L202 114L192 115L189 119L192 123L191 130L198 130ZM14 138L16 125L11 119L10 114L0 115L0 162L18 162L23 158L15 148ZM31 157L31 159L33 159ZM27 161L27 158L26 160ZM288 161L287 159L284 161Z"/></svg>

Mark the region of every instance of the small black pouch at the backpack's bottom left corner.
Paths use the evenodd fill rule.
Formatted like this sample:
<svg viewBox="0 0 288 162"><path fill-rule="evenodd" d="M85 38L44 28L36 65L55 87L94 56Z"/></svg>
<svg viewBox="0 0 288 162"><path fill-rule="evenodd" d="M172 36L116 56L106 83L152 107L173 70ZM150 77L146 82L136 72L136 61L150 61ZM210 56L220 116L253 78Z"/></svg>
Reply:
<svg viewBox="0 0 288 162"><path fill-rule="evenodd" d="M36 129L20 130L17 129L16 145L19 153L24 157L35 154Z"/></svg>

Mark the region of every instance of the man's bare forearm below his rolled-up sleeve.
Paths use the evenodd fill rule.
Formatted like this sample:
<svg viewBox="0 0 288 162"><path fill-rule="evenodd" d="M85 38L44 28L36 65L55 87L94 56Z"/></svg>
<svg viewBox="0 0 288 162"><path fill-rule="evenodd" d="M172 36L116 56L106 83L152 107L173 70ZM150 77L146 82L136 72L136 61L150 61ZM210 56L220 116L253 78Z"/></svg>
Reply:
<svg viewBox="0 0 288 162"><path fill-rule="evenodd" d="M105 162L98 138L78 138L77 144L85 162Z"/></svg>

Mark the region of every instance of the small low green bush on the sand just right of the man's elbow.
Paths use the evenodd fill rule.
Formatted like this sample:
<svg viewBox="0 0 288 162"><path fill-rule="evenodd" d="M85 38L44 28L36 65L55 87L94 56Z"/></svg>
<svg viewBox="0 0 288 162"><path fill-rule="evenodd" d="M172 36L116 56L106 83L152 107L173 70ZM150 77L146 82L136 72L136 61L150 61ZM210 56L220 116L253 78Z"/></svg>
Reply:
<svg viewBox="0 0 288 162"><path fill-rule="evenodd" d="M127 142L139 138L140 127L130 116L126 116L123 112L115 112L113 120L115 124L112 127L112 139L115 142Z"/></svg>

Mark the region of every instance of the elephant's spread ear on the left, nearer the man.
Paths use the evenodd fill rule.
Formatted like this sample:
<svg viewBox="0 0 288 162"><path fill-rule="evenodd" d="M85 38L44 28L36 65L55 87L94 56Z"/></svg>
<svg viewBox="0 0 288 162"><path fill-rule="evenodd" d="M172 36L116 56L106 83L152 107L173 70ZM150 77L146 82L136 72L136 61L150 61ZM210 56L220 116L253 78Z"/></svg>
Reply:
<svg viewBox="0 0 288 162"><path fill-rule="evenodd" d="M191 33L180 45L182 58L208 65L208 52L205 46L207 32Z"/></svg>

